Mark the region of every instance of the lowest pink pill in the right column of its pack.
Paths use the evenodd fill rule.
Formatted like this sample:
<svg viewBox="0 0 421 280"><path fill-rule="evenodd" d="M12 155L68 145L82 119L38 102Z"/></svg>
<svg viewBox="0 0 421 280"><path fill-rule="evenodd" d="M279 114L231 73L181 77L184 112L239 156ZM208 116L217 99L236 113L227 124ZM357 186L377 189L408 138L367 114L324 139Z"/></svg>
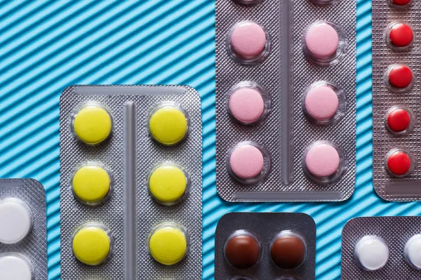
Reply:
<svg viewBox="0 0 421 280"><path fill-rule="evenodd" d="M305 164L312 175L328 177L339 167L339 154L335 147L328 144L315 145L305 156Z"/></svg>

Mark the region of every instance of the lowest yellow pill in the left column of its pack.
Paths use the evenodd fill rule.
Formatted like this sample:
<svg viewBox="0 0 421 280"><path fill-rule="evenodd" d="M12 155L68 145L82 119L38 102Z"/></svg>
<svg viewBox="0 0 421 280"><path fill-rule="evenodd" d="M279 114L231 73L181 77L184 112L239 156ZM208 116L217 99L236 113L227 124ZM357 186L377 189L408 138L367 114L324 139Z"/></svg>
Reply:
<svg viewBox="0 0 421 280"><path fill-rule="evenodd" d="M111 242L104 229L87 226L79 229L73 237L73 253L86 265L99 265L109 255Z"/></svg>

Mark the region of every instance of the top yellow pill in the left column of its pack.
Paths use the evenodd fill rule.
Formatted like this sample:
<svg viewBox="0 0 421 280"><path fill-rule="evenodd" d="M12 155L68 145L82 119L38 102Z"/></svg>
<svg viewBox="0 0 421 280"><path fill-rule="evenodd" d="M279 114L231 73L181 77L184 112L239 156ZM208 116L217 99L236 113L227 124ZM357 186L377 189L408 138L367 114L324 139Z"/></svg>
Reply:
<svg viewBox="0 0 421 280"><path fill-rule="evenodd" d="M74 116L74 133L77 138L89 145L99 144L107 139L111 128L111 116L98 105L83 106Z"/></svg>

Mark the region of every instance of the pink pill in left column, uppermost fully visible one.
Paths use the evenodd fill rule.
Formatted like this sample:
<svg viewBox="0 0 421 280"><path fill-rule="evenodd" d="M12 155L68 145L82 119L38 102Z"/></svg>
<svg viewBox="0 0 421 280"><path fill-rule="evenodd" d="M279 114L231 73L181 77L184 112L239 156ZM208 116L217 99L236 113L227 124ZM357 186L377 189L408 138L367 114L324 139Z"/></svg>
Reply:
<svg viewBox="0 0 421 280"><path fill-rule="evenodd" d="M230 41L234 53L246 60L253 60L265 51L266 34L258 24L242 22L235 27Z"/></svg>

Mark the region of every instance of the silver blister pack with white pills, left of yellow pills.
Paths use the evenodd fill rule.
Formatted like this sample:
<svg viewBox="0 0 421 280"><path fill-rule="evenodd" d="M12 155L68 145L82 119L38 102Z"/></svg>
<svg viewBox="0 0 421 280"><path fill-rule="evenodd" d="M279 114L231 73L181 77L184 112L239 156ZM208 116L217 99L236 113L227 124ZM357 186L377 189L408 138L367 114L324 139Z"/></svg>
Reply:
<svg viewBox="0 0 421 280"><path fill-rule="evenodd" d="M33 179L0 179L0 279L47 279L46 193Z"/></svg>

